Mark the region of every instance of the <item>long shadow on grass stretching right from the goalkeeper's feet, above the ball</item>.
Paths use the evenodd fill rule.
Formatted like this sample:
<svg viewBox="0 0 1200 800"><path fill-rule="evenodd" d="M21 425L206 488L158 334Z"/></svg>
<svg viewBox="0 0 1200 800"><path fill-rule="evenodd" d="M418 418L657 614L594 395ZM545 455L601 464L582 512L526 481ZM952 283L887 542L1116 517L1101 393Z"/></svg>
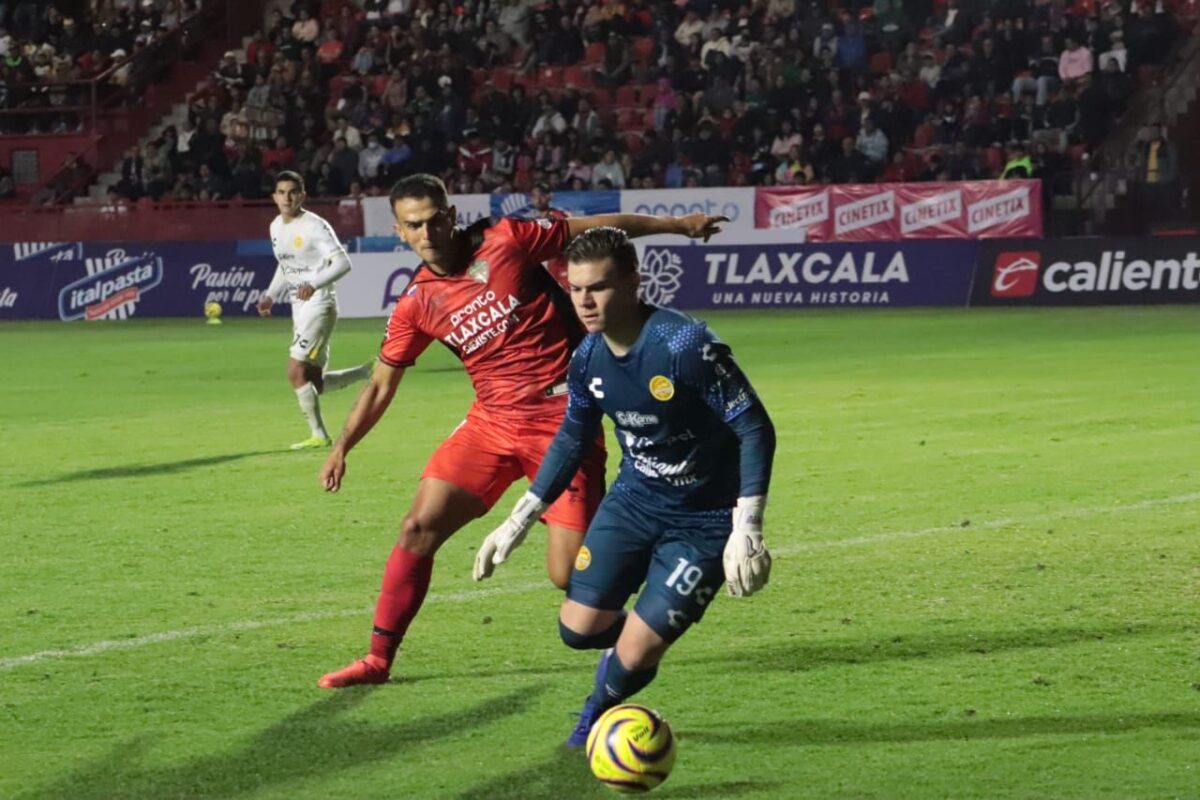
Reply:
<svg viewBox="0 0 1200 800"><path fill-rule="evenodd" d="M794 637L770 646L714 654L696 654L667 658L666 669L704 664L736 663L739 672L805 672L823 667L886 663L889 661L920 661L956 658L967 655L989 656L1020 650L1052 650L1090 642L1118 640L1159 633L1183 633L1171 627L1152 625L1120 625L1109 627L1046 627L1020 631L983 631L954 633L920 633L905 637L878 637L857 640L821 640ZM581 674L595 668L595 660L577 664ZM418 674L404 680L414 682L460 678L500 678L514 675L559 675L575 667L512 667L472 672L439 672Z"/></svg>

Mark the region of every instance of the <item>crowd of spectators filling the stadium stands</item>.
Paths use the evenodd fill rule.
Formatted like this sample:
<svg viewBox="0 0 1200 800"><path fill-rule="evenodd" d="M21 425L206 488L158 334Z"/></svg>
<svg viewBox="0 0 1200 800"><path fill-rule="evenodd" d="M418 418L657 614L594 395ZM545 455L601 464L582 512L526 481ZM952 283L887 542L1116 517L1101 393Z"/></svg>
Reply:
<svg viewBox="0 0 1200 800"><path fill-rule="evenodd" d="M415 172L460 193L1058 173L1178 36L1171 1L296 0L115 196L260 198L281 169L350 198ZM166 24L98 5L122 35ZM95 52L54 44L60 17L13 30Z"/></svg>

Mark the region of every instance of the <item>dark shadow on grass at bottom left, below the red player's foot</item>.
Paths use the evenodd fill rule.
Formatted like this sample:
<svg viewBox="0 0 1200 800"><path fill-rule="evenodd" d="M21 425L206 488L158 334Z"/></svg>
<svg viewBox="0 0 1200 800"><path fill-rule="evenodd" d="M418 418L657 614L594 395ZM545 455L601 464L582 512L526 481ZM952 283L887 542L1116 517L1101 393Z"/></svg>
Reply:
<svg viewBox="0 0 1200 800"><path fill-rule="evenodd" d="M121 742L96 763L26 795L72 798L233 798L292 781L340 772L438 739L481 728L524 711L544 688L529 687L449 714L398 724L352 721L344 715L374 690L343 690L259 732L238 751L178 766L140 766L154 734ZM370 793L367 793L370 794Z"/></svg>

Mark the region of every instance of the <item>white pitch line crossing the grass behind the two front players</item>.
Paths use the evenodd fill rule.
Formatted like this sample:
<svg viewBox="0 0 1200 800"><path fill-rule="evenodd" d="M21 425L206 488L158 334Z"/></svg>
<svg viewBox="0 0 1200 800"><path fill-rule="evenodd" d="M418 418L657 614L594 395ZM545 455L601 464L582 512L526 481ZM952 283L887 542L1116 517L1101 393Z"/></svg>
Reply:
<svg viewBox="0 0 1200 800"><path fill-rule="evenodd" d="M1159 498L1153 500L1140 500L1138 503L1130 503L1126 505L1094 506L1090 509L1066 509L1063 511L1038 515L1036 517L990 519L988 522L982 522L978 524L972 523L967 528L964 528L961 525L940 525L936 528L920 528L917 530L892 530L880 534L870 534L866 536L854 536L852 539L827 540L822 542L804 542L791 547L772 548L772 554L794 555L797 553L804 553L815 549L826 549L835 547L857 547L859 545L877 545L881 542L890 542L904 539L918 539L922 536L949 534L954 531L970 533L973 530L995 530L997 528L1008 528L1009 525L1030 524L1034 522L1045 522L1051 519L1070 519L1074 517L1091 517L1098 513L1127 513L1130 511L1144 511L1146 509L1154 509L1158 506L1181 505L1195 501L1200 501L1200 492L1193 492L1190 494L1176 494L1174 497ZM470 591L451 591L445 594L430 595L426 602L464 603L464 602L470 602L473 600L480 600L484 597L491 597L496 595L518 595L518 594L524 594L527 591L534 591L538 589L546 589L546 588L548 587L545 582L539 582L539 583L523 583L512 587L474 589ZM221 636L226 633L235 633L239 631L254 631L262 627L271 627L276 625L314 622L320 620L342 619L346 616L358 616L358 615L366 616L368 614L371 614L371 609L368 608L343 609L336 612L334 610L306 612L302 614L293 614L290 616L280 616L276 619L226 622L222 625L205 625L200 627L181 628L178 631L148 633L146 636L138 636L130 639L106 639L103 642L94 642L92 644L84 644L77 648L68 648L65 650L41 650L38 652L30 652L29 655L24 656L10 656L7 658L0 658L0 672L7 672L17 667L23 667L25 664L37 663L40 661L70 658L74 656L92 656L101 652L108 652L112 650L132 650L134 648L143 648L149 644L160 644L162 642L191 639L200 636Z"/></svg>

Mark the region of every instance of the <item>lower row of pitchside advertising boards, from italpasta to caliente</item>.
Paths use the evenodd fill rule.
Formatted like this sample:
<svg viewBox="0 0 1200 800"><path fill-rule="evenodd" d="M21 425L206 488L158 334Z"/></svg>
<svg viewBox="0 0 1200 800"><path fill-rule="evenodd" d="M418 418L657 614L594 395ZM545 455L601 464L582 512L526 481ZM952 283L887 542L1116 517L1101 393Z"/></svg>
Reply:
<svg viewBox="0 0 1200 800"><path fill-rule="evenodd" d="M352 242L343 317L384 317L419 258L395 239ZM382 251L382 252L380 252ZM1099 305L1200 301L1200 237L847 243L638 242L654 303L712 308ZM253 314L266 240L5 246L0 319Z"/></svg>

